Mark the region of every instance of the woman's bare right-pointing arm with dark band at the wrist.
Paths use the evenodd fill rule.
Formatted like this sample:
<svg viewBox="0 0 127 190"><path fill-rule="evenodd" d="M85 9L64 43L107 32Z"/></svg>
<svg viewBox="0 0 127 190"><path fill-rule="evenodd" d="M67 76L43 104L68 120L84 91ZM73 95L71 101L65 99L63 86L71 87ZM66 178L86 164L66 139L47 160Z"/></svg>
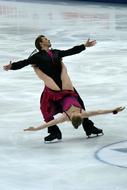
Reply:
<svg viewBox="0 0 127 190"><path fill-rule="evenodd" d="M82 112L82 118L88 118L91 116L96 116L96 115L103 115L103 114L117 114L118 112L121 112L125 109L125 107L117 107L115 109L107 109L107 110L97 110L97 111L84 111Z"/></svg>

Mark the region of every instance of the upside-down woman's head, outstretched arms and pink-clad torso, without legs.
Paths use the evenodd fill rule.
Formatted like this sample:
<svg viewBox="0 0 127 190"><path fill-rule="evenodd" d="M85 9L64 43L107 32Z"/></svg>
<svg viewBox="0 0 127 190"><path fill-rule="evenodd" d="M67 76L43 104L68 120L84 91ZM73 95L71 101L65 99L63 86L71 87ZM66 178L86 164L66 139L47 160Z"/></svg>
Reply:
<svg viewBox="0 0 127 190"><path fill-rule="evenodd" d="M72 95L69 94L67 96L64 96L64 98L60 100L60 104L63 110L63 113L60 117L55 118L47 123L44 123L39 127L29 127L27 129L24 129L24 131L37 131L44 128L48 128L52 125L56 125L58 123L63 123L65 121L71 121L74 128L77 129L79 125L82 123L83 118L109 113L117 114L118 112L121 112L125 109L125 107L117 107L115 109L85 111L84 109L82 109L81 105L77 100L77 94L73 91Z"/></svg>

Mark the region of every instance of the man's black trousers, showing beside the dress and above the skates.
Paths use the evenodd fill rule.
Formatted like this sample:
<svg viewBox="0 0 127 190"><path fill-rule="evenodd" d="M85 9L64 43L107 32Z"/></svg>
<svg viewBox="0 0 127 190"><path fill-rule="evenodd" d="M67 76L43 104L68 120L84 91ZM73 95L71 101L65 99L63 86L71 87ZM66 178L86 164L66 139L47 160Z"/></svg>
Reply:
<svg viewBox="0 0 127 190"><path fill-rule="evenodd" d="M74 89L74 90L78 94L76 89ZM78 101L79 101L80 105L82 106L82 108L85 110L85 105L83 103L83 100L79 96L79 94L78 94ZM91 120L89 120L88 118L84 118L83 122L82 122L82 126L83 126L84 131L88 131L90 127L94 126L94 123ZM48 133L56 134L59 132L60 132L60 129L57 125L53 125L51 127L48 127Z"/></svg>

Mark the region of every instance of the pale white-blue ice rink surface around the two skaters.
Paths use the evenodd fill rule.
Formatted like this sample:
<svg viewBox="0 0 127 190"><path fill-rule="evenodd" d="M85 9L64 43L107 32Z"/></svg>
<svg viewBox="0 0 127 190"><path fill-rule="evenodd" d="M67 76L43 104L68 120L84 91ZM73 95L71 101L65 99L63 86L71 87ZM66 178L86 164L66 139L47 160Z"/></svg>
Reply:
<svg viewBox="0 0 127 190"><path fill-rule="evenodd" d="M62 142L45 144L44 84L28 66L3 71L27 58L39 34L53 48L96 39L94 47L64 58L87 110L127 106L127 6L76 2L0 1L0 190L127 190L127 111L91 117L104 135L60 124Z"/></svg>

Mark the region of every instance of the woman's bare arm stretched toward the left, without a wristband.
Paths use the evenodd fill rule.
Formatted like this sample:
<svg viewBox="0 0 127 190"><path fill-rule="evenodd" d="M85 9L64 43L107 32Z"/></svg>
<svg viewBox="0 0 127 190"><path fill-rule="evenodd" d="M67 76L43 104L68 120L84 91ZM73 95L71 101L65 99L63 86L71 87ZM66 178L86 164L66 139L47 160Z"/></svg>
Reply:
<svg viewBox="0 0 127 190"><path fill-rule="evenodd" d="M53 119L47 123L44 123L43 125L41 125L39 127L29 127L29 128L24 129L24 131L38 131L38 130L45 129L45 128L48 128L50 126L56 125L58 123L63 123L67 120L68 120L68 118L67 118L66 114L63 113L62 116L60 116L56 119Z"/></svg>

